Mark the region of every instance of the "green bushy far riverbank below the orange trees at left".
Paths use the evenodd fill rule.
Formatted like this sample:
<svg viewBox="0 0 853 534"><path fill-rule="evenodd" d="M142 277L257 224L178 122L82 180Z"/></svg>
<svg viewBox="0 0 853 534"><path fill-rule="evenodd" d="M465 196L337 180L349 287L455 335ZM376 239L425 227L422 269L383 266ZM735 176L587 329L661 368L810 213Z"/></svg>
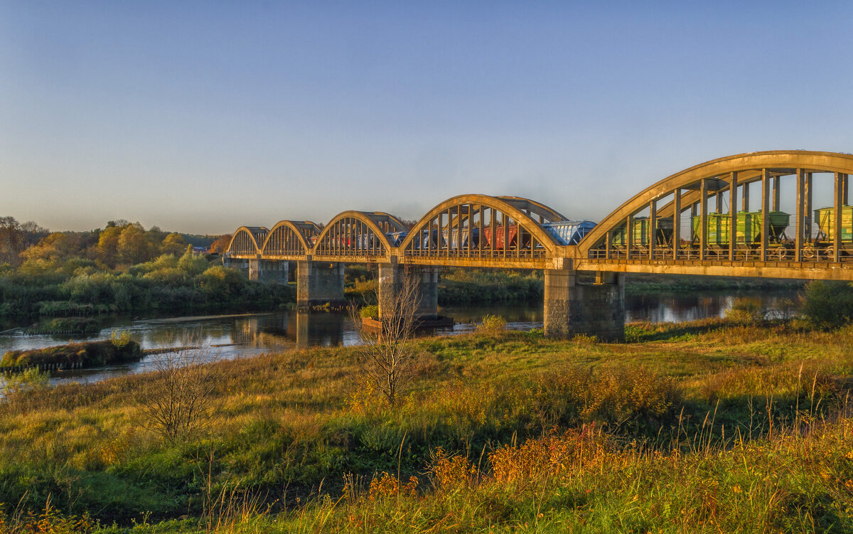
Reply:
<svg viewBox="0 0 853 534"><path fill-rule="evenodd" d="M184 261L186 259L186 261ZM165 256L125 270L0 270L0 319L55 331L56 316L194 314L279 310L296 301L289 284L250 281L204 257Z"/></svg>

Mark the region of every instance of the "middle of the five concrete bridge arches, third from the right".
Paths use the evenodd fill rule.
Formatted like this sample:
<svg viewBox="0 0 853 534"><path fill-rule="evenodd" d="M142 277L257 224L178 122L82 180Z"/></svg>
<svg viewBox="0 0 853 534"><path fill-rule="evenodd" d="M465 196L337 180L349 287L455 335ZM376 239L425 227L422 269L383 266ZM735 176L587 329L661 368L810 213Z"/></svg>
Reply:
<svg viewBox="0 0 853 534"><path fill-rule="evenodd" d="M356 232L367 232L369 243L363 243L361 237L356 242L345 239L346 235L353 235L352 229L345 229L346 234L342 233L341 225L348 221L360 224ZM400 219L386 212L342 212L336 215L325 228L322 233L317 235L316 243L311 249L311 254L314 256L328 256L333 247L335 253L349 252L348 255L386 255L392 248L391 241L388 240L386 234L391 232L402 232L407 229ZM358 234L362 236L362 234ZM375 240L375 242L374 242ZM334 241L334 242L333 242ZM357 252L365 252L358 254Z"/></svg>

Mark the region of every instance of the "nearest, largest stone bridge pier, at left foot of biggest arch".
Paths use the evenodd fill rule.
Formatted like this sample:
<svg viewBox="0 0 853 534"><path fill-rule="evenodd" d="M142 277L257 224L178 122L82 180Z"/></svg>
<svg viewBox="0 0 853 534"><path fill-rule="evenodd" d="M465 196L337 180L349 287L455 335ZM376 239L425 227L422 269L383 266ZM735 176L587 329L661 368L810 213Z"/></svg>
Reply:
<svg viewBox="0 0 853 534"><path fill-rule="evenodd" d="M595 335L621 340L625 335L624 275L596 273L595 283L577 282L575 270L545 270L545 335L572 338Z"/></svg>

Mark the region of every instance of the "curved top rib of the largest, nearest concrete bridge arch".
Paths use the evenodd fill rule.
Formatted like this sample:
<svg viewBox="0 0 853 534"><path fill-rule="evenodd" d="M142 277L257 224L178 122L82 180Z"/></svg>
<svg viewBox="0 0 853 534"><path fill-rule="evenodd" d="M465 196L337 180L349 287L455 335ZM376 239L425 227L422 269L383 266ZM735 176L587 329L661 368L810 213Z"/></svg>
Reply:
<svg viewBox="0 0 853 534"><path fill-rule="evenodd" d="M699 189L702 179L711 179L713 189L710 190L722 192L729 189L728 177L732 173L737 173L737 182L740 185L761 180L764 170L775 172L776 175L792 174L798 170L853 174L853 154L772 150L735 154L693 165L684 171L665 177L626 200L583 237L583 240L577 244L577 257L587 258L589 251L600 246L609 231L617 229L629 216L641 212L653 200L662 199L674 193L676 189L693 189L682 200L682 206L690 206L699 201L699 192L695 189ZM658 213L659 217L671 217L672 203L661 206Z"/></svg>

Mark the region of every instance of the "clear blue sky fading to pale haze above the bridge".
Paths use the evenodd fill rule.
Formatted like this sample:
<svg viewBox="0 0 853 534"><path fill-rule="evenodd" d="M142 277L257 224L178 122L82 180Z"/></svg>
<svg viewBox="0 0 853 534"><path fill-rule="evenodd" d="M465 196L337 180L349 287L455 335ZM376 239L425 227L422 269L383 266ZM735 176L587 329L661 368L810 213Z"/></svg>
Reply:
<svg viewBox="0 0 853 534"><path fill-rule="evenodd" d="M0 0L0 216L54 230L597 221L776 149L853 152L853 3Z"/></svg>

